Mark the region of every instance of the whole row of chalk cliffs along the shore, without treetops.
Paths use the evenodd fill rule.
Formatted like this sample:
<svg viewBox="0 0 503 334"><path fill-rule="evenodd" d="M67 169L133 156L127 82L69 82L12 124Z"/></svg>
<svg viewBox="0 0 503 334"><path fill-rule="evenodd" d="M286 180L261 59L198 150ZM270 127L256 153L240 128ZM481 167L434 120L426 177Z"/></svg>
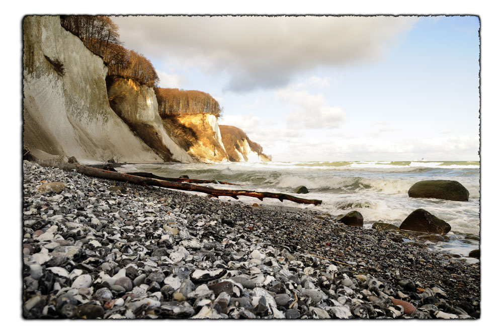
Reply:
<svg viewBox="0 0 503 334"><path fill-rule="evenodd" d="M159 115L154 90L108 67L57 16L23 20L23 145L36 158L79 161L267 161L262 147L213 114ZM183 114L183 110L181 111Z"/></svg>

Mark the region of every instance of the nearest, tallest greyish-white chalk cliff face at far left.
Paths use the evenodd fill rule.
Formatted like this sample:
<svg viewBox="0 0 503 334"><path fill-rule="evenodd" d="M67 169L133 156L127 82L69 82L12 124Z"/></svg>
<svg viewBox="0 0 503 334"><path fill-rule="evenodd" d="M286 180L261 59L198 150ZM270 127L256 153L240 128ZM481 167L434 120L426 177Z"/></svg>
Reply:
<svg viewBox="0 0 503 334"><path fill-rule="evenodd" d="M23 144L32 153L162 161L110 108L107 67L59 17L26 17L23 31Z"/></svg>

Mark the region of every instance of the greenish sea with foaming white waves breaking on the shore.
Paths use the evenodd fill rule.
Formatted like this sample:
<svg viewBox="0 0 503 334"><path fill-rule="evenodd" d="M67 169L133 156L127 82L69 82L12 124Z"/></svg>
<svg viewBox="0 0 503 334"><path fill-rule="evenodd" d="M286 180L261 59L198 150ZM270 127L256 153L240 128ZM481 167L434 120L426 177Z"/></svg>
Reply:
<svg viewBox="0 0 503 334"><path fill-rule="evenodd" d="M479 248L480 234L480 162L479 161L310 161L310 162L221 162L126 164L119 170L149 172L158 176L217 180L239 184L211 184L220 189L239 189L291 194L322 200L322 204L298 204L266 198L241 196L238 200L219 197L220 201L240 201L269 206L317 210L332 215L357 210L364 217L364 228L374 222L399 226L415 209L422 208L451 225L446 242L430 242L431 249L443 250L463 258ZM468 202L410 198L408 189L418 181L454 180L468 189ZM295 194L305 186L308 194ZM206 196L200 194L200 196ZM468 237L468 238L467 238ZM404 241L407 241L406 239ZM475 260L468 258L473 263Z"/></svg>

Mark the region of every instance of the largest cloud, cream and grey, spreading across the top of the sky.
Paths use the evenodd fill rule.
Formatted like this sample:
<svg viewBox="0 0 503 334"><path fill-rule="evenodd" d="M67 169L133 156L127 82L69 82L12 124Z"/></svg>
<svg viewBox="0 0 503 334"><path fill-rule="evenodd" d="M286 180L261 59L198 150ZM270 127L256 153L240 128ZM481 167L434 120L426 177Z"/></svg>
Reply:
<svg viewBox="0 0 503 334"><path fill-rule="evenodd" d="M417 17L113 17L127 48L170 63L227 72L228 90L289 84L319 66L368 62L387 53Z"/></svg>

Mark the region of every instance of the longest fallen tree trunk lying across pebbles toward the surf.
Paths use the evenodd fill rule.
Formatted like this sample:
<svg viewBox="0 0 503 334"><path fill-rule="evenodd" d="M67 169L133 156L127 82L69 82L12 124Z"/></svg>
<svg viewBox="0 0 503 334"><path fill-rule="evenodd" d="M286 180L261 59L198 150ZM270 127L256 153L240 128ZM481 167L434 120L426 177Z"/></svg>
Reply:
<svg viewBox="0 0 503 334"><path fill-rule="evenodd" d="M114 181L122 181L129 182L142 186L155 186L161 188L169 188L169 189L178 189L178 190L186 190L186 191L195 191L199 193L208 194L211 197L219 197L219 196L229 196L234 199L238 199L238 196L249 196L255 197L259 200L264 200L264 198L277 198L281 202L284 200L289 200L295 203L301 204L314 204L320 205L320 200L308 200L304 198L299 198L295 196L290 196L287 194L280 193L269 193L269 192L256 192L249 190L229 190L229 189L214 189L209 187L197 186L190 183L180 183L180 182L172 182L172 181L164 181L158 179L144 178L140 176L134 176L129 174L123 174L119 172L111 172L105 171L97 168L92 168L88 166L84 166L81 164L74 163L66 163L66 162L57 162L57 161L47 161L47 160L36 160L40 165L46 167L57 167L63 171L67 172L77 172L83 175L87 175L94 178L114 180Z"/></svg>

